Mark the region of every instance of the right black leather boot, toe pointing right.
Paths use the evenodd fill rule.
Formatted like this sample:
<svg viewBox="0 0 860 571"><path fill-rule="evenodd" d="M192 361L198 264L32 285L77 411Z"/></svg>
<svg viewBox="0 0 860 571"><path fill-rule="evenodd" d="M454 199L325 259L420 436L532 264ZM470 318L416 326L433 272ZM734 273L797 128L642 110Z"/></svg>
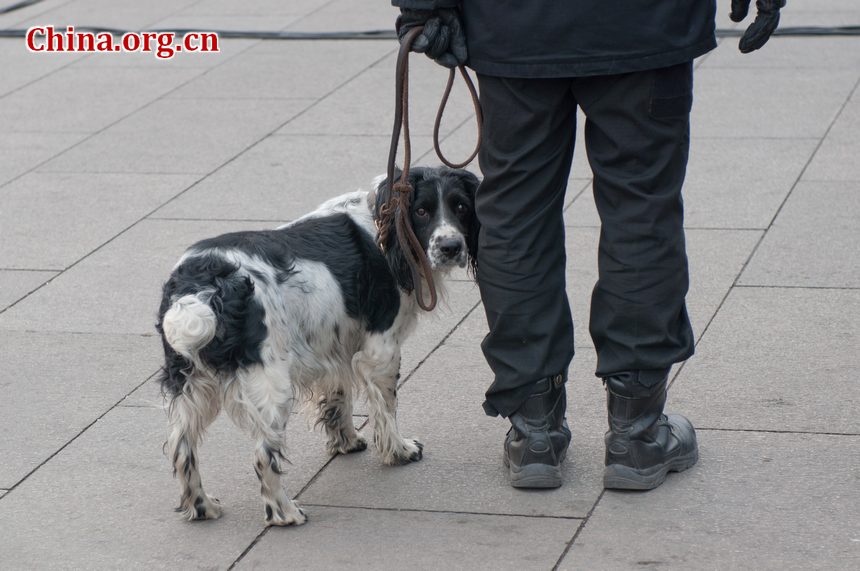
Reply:
<svg viewBox="0 0 860 571"><path fill-rule="evenodd" d="M638 371L603 379L609 431L603 487L650 490L669 472L681 472L699 459L696 431L681 415L663 414L667 374L643 384Z"/></svg>

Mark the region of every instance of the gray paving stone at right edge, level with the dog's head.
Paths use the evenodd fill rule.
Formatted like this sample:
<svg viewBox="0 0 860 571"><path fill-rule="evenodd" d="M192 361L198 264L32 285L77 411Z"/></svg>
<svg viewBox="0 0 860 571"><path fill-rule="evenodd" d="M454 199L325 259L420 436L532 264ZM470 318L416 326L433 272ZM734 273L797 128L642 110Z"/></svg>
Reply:
<svg viewBox="0 0 860 571"><path fill-rule="evenodd" d="M858 217L860 181L799 184L739 283L860 287Z"/></svg>

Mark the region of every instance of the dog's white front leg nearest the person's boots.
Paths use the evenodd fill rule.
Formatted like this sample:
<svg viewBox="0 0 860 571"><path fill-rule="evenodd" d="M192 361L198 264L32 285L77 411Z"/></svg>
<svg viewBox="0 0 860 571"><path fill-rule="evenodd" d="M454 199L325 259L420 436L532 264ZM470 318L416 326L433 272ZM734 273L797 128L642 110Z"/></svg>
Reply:
<svg viewBox="0 0 860 571"><path fill-rule="evenodd" d="M424 445L404 438L397 428L397 381L400 379L400 345L386 334L367 338L352 359L355 373L365 383L374 423L373 442L385 464L421 460Z"/></svg>

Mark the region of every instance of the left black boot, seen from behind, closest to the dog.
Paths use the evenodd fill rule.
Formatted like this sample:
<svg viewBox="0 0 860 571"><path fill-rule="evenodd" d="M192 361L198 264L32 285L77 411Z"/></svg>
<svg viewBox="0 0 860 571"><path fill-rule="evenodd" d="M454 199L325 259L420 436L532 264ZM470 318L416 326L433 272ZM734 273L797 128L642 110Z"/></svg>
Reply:
<svg viewBox="0 0 860 571"><path fill-rule="evenodd" d="M528 400L509 417L505 466L515 488L561 486L561 463L570 444L564 381L563 375L541 379Z"/></svg>

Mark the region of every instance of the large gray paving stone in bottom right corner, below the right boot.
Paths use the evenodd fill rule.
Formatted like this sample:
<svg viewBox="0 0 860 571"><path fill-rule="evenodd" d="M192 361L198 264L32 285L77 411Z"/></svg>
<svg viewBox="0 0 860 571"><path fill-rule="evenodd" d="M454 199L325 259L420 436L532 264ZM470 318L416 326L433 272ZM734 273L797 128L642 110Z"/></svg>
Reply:
<svg viewBox="0 0 860 571"><path fill-rule="evenodd" d="M647 494L604 495L560 569L860 565L851 485L860 438L700 431L699 439L689 472Z"/></svg>

